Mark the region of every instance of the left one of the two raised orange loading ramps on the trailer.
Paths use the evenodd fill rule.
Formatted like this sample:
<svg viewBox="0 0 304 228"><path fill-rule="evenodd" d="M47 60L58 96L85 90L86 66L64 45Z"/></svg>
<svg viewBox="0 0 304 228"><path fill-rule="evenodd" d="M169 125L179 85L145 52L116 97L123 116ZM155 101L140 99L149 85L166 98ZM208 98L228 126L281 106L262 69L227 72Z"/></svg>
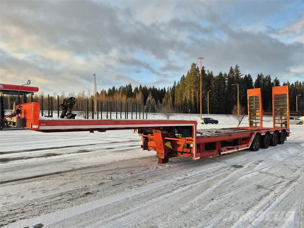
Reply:
<svg viewBox="0 0 304 228"><path fill-rule="evenodd" d="M263 106L261 88L248 89L248 121L249 126L263 127ZM259 118L260 122L257 122Z"/></svg>

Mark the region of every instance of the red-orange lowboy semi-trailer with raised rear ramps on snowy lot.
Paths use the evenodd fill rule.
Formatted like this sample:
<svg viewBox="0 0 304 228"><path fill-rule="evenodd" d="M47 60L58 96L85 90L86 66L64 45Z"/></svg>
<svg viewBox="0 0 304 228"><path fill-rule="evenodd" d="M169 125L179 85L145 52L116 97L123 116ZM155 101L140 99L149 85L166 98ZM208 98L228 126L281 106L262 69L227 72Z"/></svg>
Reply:
<svg viewBox="0 0 304 228"><path fill-rule="evenodd" d="M193 160L233 151L257 151L283 144L289 136L288 87L273 88L273 127L262 126L261 90L248 90L248 127L197 130L196 121L140 119L56 119L40 118L40 104L22 104L23 127L41 132L98 131L134 129L142 137L143 150L154 150L158 162L185 156Z"/></svg>

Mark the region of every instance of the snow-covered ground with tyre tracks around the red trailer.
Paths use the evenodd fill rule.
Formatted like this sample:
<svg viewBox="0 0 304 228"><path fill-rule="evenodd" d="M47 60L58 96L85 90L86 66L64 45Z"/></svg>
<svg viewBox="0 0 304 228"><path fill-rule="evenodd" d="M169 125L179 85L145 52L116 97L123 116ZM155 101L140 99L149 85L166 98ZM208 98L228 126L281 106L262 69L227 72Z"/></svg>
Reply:
<svg viewBox="0 0 304 228"><path fill-rule="evenodd" d="M237 125L211 117L199 128ZM1 131L0 226L303 227L304 127L290 127L283 145L167 164L132 130Z"/></svg>

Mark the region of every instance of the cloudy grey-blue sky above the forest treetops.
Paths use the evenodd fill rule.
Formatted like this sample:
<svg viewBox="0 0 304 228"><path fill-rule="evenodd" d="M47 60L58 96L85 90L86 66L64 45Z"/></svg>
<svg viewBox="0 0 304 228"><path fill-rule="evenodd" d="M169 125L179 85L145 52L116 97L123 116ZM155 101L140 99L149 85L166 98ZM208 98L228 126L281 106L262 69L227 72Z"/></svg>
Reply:
<svg viewBox="0 0 304 228"><path fill-rule="evenodd" d="M303 1L1 1L1 83L50 93L167 87L204 57L303 80Z"/></svg>

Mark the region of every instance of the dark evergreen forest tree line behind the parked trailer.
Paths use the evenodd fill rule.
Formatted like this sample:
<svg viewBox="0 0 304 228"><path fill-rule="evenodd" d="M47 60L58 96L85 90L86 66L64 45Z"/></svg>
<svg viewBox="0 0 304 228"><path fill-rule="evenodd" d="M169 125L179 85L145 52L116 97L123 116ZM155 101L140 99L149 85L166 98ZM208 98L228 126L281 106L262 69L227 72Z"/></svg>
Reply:
<svg viewBox="0 0 304 228"><path fill-rule="evenodd" d="M281 82L278 78L271 78L271 76L264 75L263 73L257 74L254 79L250 74L241 74L240 67L236 65L234 68L230 67L228 73L219 72L215 75L212 71L205 70L202 67L202 112L207 113L207 100L209 91L209 113L210 114L231 114L233 106L237 104L237 85L239 85L239 99L240 105L247 108L247 89L261 88L262 103L264 110L272 110L272 87L279 85L288 85L289 88L289 103L290 110L296 110L296 96L298 96L298 111L303 111L303 91L304 82L295 81L290 83L289 81ZM43 96L43 99L42 99ZM156 88L154 86L136 86L133 88L131 84L119 88L109 88L97 92L99 111L106 110L108 103L108 109L116 111L116 102L118 111L120 106L122 112L126 110L128 105L128 111L135 112L136 105L137 110L139 106L141 111L144 108L148 109L148 112L162 112L165 106L170 106L175 113L199 113L200 108L200 70L197 64L192 63L190 69L186 75L182 75L178 82L174 81L173 85L167 88ZM29 97L29 96L28 96ZM53 94L53 110L57 110L57 94ZM63 102L66 97L75 97L76 105L75 111L86 111L87 101L89 100L89 110L92 110L92 100L94 100L94 94L89 90L86 92L82 90L77 94L70 92L68 95L62 92L59 95L59 104ZM16 96L5 96L5 109L12 109L12 102ZM152 100L153 98L153 100ZM17 99L18 100L18 99ZM20 102L22 96L20 96ZM48 107L48 95L43 92L36 93L33 96L33 101L42 102L44 110ZM28 102L30 98L28 98ZM151 102L153 101L153 102ZM152 107L151 107L152 105Z"/></svg>

